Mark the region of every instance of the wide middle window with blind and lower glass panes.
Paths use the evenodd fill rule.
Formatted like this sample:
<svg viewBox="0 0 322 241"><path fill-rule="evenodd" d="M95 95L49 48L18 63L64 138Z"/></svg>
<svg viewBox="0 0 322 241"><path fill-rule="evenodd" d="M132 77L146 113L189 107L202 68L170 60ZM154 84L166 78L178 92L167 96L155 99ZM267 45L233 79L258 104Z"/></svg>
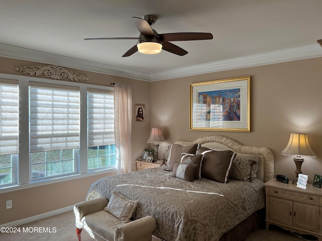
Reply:
<svg viewBox="0 0 322 241"><path fill-rule="evenodd" d="M29 92L31 179L76 173L79 88L30 83Z"/></svg>

